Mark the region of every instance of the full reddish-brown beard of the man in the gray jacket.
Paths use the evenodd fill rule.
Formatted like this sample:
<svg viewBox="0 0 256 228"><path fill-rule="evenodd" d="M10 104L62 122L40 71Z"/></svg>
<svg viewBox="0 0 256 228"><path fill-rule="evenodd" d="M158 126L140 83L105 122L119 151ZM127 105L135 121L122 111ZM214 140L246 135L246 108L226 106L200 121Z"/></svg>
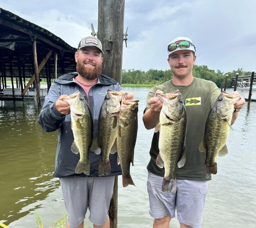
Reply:
<svg viewBox="0 0 256 228"><path fill-rule="evenodd" d="M80 63L79 59L77 61L76 64L76 70L79 73L79 75L81 75L83 78L86 78L88 80L94 80L96 78L98 78L102 72L102 66L100 65L96 65L93 69L92 68L87 68L84 64L85 63L90 63L93 65L92 62L88 61L84 61L83 63Z"/></svg>

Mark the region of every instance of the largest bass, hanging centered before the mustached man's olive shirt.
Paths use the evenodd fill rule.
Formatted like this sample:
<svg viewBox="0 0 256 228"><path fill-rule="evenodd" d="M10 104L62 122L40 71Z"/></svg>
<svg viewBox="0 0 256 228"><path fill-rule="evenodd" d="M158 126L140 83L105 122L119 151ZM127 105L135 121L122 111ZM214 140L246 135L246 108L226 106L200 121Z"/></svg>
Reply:
<svg viewBox="0 0 256 228"><path fill-rule="evenodd" d="M176 193L176 168L177 165L179 168L184 166L186 161L186 109L179 90L156 96L163 101L160 122L155 129L155 132L159 130L159 155L156 164L165 168L162 191Z"/></svg>

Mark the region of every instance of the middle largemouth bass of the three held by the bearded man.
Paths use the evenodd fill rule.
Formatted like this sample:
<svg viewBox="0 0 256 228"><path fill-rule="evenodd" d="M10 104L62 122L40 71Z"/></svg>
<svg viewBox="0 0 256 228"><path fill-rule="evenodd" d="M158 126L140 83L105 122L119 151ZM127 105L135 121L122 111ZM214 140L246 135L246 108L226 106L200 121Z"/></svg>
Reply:
<svg viewBox="0 0 256 228"><path fill-rule="evenodd" d="M100 153L99 176L110 174L109 154L117 151L116 137L121 100L121 92L108 90L101 106L98 121L98 136L96 139L96 145L98 145L96 147L98 149L95 150L95 146L92 148L96 154Z"/></svg>

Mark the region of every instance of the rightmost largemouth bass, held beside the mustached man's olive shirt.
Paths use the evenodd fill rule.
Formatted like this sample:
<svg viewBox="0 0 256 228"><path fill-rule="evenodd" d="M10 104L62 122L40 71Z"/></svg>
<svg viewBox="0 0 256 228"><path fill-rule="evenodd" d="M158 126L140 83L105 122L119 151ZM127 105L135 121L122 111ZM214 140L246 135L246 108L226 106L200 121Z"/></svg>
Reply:
<svg viewBox="0 0 256 228"><path fill-rule="evenodd" d="M199 150L206 151L204 172L207 178L211 173L217 173L217 155L224 156L228 153L226 142L231 128L234 104L239 99L240 96L237 94L222 91L208 114L204 136L199 144Z"/></svg>

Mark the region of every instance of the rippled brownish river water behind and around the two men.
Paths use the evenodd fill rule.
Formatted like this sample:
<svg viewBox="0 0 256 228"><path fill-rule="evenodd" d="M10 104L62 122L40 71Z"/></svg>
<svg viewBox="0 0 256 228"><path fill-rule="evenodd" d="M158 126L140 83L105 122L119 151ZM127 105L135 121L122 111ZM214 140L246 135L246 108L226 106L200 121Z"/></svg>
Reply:
<svg viewBox="0 0 256 228"><path fill-rule="evenodd" d="M118 227L151 228L147 163L153 135L142 114L149 88L124 88L139 99L139 128L131 175L136 185L122 187L119 176ZM15 104L15 105L14 105ZM54 178L57 131L45 133L37 122L34 100L0 101L0 222L10 228L36 228L39 212L44 228L66 213L60 183ZM256 102L244 105L230 130L229 154L218 157L218 173L208 182L202 228L256 227ZM85 224L92 227L86 214ZM171 228L178 228L176 218Z"/></svg>

